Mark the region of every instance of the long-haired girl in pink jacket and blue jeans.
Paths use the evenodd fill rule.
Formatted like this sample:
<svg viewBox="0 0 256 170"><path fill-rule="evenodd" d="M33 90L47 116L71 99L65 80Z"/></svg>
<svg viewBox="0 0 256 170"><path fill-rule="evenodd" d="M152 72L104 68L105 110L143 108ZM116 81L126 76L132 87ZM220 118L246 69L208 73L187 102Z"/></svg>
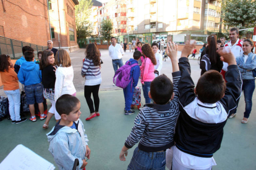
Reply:
<svg viewBox="0 0 256 170"><path fill-rule="evenodd" d="M149 44L144 44L142 46L142 54L145 55L145 59L140 66L141 79L143 95L146 103L150 103L150 98L148 92L150 91L151 81L155 78L154 65L156 65L155 55Z"/></svg>

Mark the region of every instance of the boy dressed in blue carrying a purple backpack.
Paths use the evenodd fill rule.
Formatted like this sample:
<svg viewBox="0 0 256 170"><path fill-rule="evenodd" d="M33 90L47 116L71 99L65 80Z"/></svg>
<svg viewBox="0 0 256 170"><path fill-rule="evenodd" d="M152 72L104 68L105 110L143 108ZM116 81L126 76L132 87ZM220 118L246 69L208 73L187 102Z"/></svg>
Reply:
<svg viewBox="0 0 256 170"><path fill-rule="evenodd" d="M138 63L140 60L141 56L140 51L135 51L134 52L134 59L130 59L129 62L131 65L134 63ZM124 91L124 100L126 102L125 108L124 108L124 115L133 115L135 113L134 110L130 108L130 105L132 105L132 97L134 95L134 88L137 86L138 81L139 81L139 76L140 76L140 67L139 65L135 65L130 69L130 78L132 78L132 87L130 86L131 84L129 83L126 88L123 89Z"/></svg>

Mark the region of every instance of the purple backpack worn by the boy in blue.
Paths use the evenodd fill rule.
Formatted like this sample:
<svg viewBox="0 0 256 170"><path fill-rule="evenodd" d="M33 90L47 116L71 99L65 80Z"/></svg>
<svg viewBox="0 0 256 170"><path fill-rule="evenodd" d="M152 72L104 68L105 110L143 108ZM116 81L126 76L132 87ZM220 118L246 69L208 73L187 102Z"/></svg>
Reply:
<svg viewBox="0 0 256 170"><path fill-rule="evenodd" d="M130 62L127 62L125 65L120 67L114 74L113 83L117 87L121 87L122 89L126 88L130 81L133 80L132 78L130 78L130 70L136 65L138 65L138 63L134 63L133 65L131 65Z"/></svg>

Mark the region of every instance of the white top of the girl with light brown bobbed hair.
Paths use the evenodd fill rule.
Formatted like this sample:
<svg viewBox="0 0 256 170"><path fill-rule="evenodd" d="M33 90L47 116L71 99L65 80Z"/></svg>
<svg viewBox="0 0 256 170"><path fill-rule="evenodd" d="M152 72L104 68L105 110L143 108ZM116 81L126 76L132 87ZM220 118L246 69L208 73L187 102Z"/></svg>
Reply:
<svg viewBox="0 0 256 170"><path fill-rule="evenodd" d="M58 67L56 70L56 81L54 87L54 100L56 101L63 94L74 94L75 86L73 84L73 67Z"/></svg>

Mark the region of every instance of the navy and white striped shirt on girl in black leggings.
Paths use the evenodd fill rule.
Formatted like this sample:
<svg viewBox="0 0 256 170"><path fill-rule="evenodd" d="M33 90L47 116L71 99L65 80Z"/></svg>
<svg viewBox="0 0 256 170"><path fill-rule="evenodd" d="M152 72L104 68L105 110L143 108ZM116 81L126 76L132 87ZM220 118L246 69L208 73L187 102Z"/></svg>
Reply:
<svg viewBox="0 0 256 170"><path fill-rule="evenodd" d="M100 66L95 66L93 60L85 59L81 75L85 75L85 79L101 78Z"/></svg>

